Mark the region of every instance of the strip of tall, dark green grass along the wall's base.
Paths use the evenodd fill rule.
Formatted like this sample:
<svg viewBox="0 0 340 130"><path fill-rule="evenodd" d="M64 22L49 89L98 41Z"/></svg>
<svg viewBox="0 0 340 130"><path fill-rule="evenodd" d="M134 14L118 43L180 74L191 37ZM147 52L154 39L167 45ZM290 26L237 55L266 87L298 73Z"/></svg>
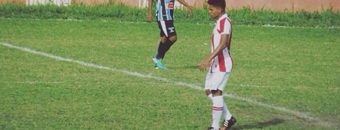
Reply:
<svg viewBox="0 0 340 130"><path fill-rule="evenodd" d="M208 15L208 8L193 8L194 16L188 17L186 10L175 10L176 22L214 23ZM153 8L153 12L155 8ZM145 21L146 9L126 6L121 3L98 5L72 4L70 6L24 5L18 3L0 4L2 18L36 19L111 19L121 21ZM227 11L234 25L276 25L299 27L340 27L340 12L274 12L251 10L249 7ZM153 17L153 20L156 20Z"/></svg>

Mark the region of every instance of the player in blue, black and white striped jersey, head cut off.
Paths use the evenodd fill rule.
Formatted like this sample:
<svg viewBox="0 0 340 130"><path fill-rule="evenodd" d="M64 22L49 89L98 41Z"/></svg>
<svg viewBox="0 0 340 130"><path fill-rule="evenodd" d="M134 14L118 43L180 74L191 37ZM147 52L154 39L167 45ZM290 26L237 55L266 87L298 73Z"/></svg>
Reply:
<svg viewBox="0 0 340 130"><path fill-rule="evenodd" d="M183 4L188 11L189 16L192 16L189 5L184 0L178 0L179 3ZM158 27L160 28L161 41L158 45L158 52L153 56L155 68L167 69L161 64L161 60L164 58L166 51L176 42L176 30L174 26L174 5L175 0L156 0L156 17ZM151 6L152 0L148 0L147 8L147 21L151 21Z"/></svg>

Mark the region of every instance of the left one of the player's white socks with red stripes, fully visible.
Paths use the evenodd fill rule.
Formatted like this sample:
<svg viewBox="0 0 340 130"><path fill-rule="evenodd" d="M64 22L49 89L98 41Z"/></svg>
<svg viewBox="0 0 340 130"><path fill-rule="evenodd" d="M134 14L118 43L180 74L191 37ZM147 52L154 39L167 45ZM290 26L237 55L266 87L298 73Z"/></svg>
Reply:
<svg viewBox="0 0 340 130"><path fill-rule="evenodd" d="M213 97L213 124L212 127L216 130L219 129L219 122L223 113L223 97L215 96Z"/></svg>

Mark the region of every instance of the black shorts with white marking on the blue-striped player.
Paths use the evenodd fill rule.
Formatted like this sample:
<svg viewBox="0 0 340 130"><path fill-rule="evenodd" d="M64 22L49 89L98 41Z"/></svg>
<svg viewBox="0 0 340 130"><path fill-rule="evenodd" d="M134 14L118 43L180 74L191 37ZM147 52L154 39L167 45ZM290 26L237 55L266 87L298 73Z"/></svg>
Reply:
<svg viewBox="0 0 340 130"><path fill-rule="evenodd" d="M176 30L173 20L157 21L158 27L160 28L160 36L171 37L176 35Z"/></svg>

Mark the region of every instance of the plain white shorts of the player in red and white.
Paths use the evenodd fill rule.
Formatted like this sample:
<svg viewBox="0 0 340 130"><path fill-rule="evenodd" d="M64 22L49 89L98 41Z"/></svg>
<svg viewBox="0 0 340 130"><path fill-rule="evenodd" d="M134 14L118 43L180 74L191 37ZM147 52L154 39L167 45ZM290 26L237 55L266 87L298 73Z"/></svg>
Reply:
<svg viewBox="0 0 340 130"><path fill-rule="evenodd" d="M229 72L213 72L207 73L205 78L205 90L221 90L223 92L227 81L229 79L230 73Z"/></svg>

